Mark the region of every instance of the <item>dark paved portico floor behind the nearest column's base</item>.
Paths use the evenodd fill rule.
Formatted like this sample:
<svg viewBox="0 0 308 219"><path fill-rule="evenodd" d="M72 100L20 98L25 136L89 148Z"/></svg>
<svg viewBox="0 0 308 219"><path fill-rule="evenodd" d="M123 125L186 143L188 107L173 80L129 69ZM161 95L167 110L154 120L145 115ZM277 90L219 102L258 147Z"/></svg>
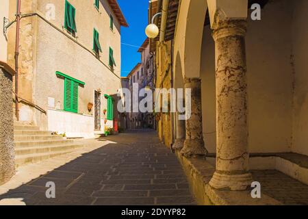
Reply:
<svg viewBox="0 0 308 219"><path fill-rule="evenodd" d="M308 205L308 185L277 170L251 170L261 192L285 205Z"/></svg>

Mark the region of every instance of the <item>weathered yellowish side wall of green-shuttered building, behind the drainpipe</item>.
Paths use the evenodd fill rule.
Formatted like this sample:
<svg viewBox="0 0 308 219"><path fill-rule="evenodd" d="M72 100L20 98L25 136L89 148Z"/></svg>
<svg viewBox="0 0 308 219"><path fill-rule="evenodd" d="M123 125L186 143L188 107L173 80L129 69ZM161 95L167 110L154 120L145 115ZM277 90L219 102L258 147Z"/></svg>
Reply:
<svg viewBox="0 0 308 219"><path fill-rule="evenodd" d="M34 0L21 1L22 14L35 12L36 4ZM14 21L16 14L16 1L10 0L9 18ZM34 102L34 81L36 74L36 25L37 18L29 16L21 19L20 46L18 57L18 96ZM8 64L15 66L14 51L16 41L16 23L8 29ZM13 83L14 86L14 83ZM29 105L20 103L20 120L36 123L34 118L35 110Z"/></svg>

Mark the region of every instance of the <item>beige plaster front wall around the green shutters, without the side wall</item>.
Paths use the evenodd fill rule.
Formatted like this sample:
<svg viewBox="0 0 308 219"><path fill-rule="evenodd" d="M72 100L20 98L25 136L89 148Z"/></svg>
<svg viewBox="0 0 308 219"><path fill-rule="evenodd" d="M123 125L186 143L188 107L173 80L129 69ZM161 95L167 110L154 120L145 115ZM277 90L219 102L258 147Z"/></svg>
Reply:
<svg viewBox="0 0 308 219"><path fill-rule="evenodd" d="M38 21L36 100L40 105L47 107L47 97L54 98L55 103L60 103L60 109L63 109L64 80L55 75L56 71L60 71L86 83L84 87L79 86L78 112L92 116L94 115L94 107L89 112L88 103L94 103L94 90L101 90L101 110L103 111L103 109L107 109L107 101L103 95L116 94L120 88L120 25L114 16L114 30L110 29L110 13L112 11L107 1L101 1L103 5L100 5L99 12L91 1L88 3L76 0L69 2L76 9L77 38L75 39L85 48L45 21L41 19ZM38 11L42 14L46 10L47 3L55 5L55 21L51 21L51 23L62 29L64 2L39 1ZM94 28L100 34L99 41L103 50L100 53L101 62L92 53ZM65 29L63 31L66 32ZM116 61L114 73L108 66L109 47L114 50ZM104 114L101 113L101 116L104 117ZM40 120L41 127L46 129L47 119L42 118L39 113L36 118L38 121Z"/></svg>

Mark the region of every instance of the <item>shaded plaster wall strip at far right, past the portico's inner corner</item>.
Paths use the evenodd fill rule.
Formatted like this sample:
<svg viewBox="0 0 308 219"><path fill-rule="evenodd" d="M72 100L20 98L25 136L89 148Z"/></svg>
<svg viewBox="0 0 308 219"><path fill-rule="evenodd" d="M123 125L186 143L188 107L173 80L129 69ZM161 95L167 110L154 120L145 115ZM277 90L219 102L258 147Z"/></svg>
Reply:
<svg viewBox="0 0 308 219"><path fill-rule="evenodd" d="M294 1L292 20L292 73L294 109L292 151L308 155L308 1Z"/></svg>

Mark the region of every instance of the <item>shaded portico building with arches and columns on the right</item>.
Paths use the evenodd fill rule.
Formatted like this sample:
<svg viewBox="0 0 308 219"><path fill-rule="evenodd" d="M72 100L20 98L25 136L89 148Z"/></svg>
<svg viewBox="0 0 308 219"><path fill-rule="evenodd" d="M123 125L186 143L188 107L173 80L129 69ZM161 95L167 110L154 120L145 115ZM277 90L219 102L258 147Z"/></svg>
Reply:
<svg viewBox="0 0 308 219"><path fill-rule="evenodd" d="M261 20L253 19L254 3ZM192 116L183 123L173 115L170 139L198 202L257 204L247 192L251 170L279 170L308 184L307 167L290 159L308 160L307 1L152 4L152 16L162 12L156 55L171 43L172 87L192 92ZM158 66L168 64L158 60ZM159 128L159 136L169 130ZM233 195L242 201L220 189L238 191ZM275 204L264 196L259 203Z"/></svg>

